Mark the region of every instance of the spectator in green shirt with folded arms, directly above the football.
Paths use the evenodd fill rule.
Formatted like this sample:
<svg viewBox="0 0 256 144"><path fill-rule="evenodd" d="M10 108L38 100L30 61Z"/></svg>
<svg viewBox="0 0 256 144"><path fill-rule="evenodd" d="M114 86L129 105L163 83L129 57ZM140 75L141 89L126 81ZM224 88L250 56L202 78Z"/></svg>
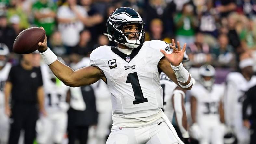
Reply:
<svg viewBox="0 0 256 144"><path fill-rule="evenodd" d="M44 27L46 35L50 36L55 29L57 4L51 0L37 0L33 6L34 24Z"/></svg>

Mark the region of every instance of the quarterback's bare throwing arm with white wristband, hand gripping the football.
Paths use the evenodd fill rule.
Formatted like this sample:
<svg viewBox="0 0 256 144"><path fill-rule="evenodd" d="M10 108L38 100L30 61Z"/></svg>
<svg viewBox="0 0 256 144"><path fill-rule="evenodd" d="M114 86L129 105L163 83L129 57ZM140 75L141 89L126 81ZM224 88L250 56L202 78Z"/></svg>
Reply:
<svg viewBox="0 0 256 144"><path fill-rule="evenodd" d="M41 29L44 29L41 27ZM49 65L54 75L65 85L78 87L95 83L100 78L105 81L104 74L97 67L88 66L74 71L57 59L57 56L47 47L47 40L39 42L38 51L41 53L45 63Z"/></svg>

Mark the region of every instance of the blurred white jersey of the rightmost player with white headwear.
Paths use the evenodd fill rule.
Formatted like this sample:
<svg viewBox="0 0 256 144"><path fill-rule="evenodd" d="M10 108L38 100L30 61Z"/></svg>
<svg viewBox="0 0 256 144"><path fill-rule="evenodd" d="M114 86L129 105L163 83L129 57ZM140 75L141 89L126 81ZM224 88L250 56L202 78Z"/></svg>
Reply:
<svg viewBox="0 0 256 144"><path fill-rule="evenodd" d="M225 94L225 119L229 126L242 125L242 106L245 92L256 84L256 76L247 81L239 72L227 75L227 91Z"/></svg>

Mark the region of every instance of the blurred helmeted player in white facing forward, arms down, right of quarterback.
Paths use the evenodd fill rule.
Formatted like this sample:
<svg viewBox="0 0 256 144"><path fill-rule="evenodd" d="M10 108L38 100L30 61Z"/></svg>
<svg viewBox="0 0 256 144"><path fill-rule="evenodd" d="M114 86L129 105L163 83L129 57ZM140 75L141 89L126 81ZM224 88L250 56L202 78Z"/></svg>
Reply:
<svg viewBox="0 0 256 144"><path fill-rule="evenodd" d="M224 112L222 97L224 85L214 84L215 69L211 65L199 68L200 80L190 90L191 137L200 144L223 144Z"/></svg>

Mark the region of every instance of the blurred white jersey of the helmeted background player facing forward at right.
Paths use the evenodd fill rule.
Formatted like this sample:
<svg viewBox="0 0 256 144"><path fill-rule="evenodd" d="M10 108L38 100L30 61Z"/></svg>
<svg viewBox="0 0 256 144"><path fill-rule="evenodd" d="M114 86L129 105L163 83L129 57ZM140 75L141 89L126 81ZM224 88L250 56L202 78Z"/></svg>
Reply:
<svg viewBox="0 0 256 144"><path fill-rule="evenodd" d="M224 88L224 85L213 84L212 90L208 91L200 83L192 87L190 93L197 100L196 121L198 124L220 123L219 106L224 96Z"/></svg>

